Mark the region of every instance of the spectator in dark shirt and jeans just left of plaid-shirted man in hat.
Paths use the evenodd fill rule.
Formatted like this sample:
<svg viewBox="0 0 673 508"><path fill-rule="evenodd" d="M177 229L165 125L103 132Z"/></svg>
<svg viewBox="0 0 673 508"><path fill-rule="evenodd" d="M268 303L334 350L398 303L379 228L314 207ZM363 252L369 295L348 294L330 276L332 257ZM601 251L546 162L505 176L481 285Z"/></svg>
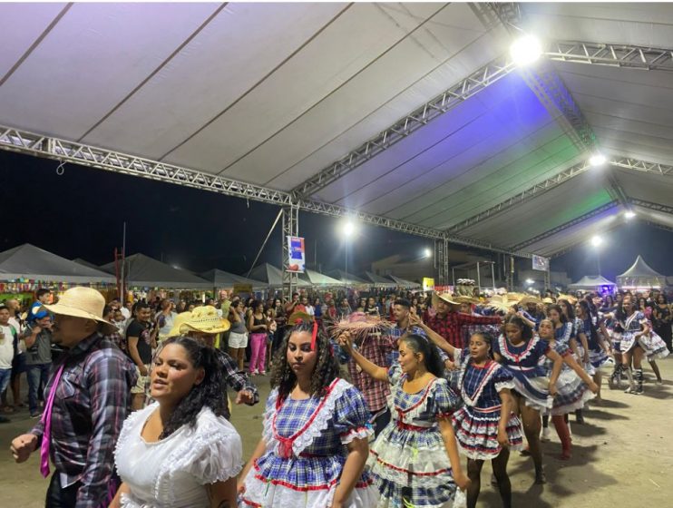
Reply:
<svg viewBox="0 0 673 508"><path fill-rule="evenodd" d="M25 348L28 409L31 418L37 418L40 415L37 392L46 384L52 366L52 315L44 306L31 308L21 340Z"/></svg>

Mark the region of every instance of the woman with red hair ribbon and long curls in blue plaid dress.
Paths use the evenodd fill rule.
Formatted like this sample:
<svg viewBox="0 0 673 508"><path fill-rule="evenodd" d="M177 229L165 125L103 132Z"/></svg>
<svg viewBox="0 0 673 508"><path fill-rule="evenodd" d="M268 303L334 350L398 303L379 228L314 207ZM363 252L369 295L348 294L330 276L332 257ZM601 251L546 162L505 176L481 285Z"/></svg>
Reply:
<svg viewBox="0 0 673 508"><path fill-rule="evenodd" d="M362 473L369 412L356 388L337 375L317 323L292 327L273 362L274 388L262 439L241 475L240 507L376 505L376 487Z"/></svg>

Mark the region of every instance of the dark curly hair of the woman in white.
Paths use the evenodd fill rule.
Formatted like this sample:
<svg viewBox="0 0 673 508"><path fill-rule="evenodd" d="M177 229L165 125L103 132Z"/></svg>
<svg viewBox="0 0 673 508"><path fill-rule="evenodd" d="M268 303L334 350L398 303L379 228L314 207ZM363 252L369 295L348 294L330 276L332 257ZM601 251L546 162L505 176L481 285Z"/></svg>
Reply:
<svg viewBox="0 0 673 508"><path fill-rule="evenodd" d="M195 427L197 417L204 406L210 407L210 410L217 416L224 416L227 411L227 400L224 396L226 388L224 368L219 361L218 352L200 344L192 337L175 336L164 340L156 354L159 355L161 350L169 344L183 347L192 366L202 368L205 376L199 385L192 386L190 393L180 400L180 404L164 425L159 439L173 434L182 425Z"/></svg>

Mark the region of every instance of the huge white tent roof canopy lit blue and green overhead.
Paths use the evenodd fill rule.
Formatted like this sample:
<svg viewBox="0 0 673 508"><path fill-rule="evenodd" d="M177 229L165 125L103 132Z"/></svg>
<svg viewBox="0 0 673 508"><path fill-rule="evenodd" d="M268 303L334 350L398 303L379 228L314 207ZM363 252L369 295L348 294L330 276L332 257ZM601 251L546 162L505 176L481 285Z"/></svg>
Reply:
<svg viewBox="0 0 673 508"><path fill-rule="evenodd" d="M0 148L555 256L624 210L673 229L672 31L666 3L2 4Z"/></svg>

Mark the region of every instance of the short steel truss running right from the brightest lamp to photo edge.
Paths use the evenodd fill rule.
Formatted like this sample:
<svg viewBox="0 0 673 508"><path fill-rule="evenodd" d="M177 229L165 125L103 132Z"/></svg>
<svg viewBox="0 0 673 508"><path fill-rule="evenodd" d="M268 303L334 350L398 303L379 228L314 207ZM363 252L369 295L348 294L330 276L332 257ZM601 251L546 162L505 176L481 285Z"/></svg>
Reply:
<svg viewBox="0 0 673 508"><path fill-rule="evenodd" d="M673 50L648 46L553 41L544 55L558 62L673 72Z"/></svg>

